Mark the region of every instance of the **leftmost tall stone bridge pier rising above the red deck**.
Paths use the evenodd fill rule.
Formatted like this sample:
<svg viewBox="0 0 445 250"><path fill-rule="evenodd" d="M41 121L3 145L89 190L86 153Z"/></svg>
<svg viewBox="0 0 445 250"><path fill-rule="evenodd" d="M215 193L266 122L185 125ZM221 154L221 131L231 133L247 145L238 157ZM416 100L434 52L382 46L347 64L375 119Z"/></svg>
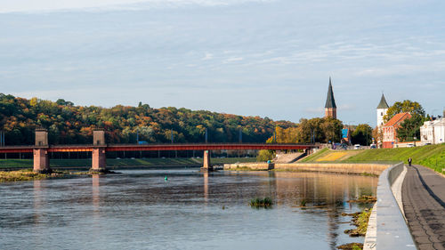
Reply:
<svg viewBox="0 0 445 250"><path fill-rule="evenodd" d="M48 157L48 131L45 129L36 129L36 147L33 150L34 172L52 173L50 168L50 159Z"/></svg>

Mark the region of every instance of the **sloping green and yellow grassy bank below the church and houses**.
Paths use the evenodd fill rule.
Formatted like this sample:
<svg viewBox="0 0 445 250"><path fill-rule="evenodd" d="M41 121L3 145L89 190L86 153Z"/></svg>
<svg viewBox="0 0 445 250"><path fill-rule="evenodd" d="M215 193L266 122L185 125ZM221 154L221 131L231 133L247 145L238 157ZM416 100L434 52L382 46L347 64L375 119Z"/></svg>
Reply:
<svg viewBox="0 0 445 250"><path fill-rule="evenodd" d="M326 163L396 163L408 164L412 157L414 165L425 165L438 173L444 173L445 143L414 148L367 149L367 150L329 150L322 149L300 162Z"/></svg>

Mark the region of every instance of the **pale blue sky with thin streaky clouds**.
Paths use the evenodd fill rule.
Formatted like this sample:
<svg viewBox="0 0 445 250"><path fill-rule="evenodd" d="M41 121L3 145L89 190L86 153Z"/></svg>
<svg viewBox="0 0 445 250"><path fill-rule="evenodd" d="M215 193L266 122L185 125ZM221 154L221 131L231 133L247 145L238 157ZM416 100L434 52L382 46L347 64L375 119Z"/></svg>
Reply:
<svg viewBox="0 0 445 250"><path fill-rule="evenodd" d="M76 105L323 117L445 109L445 2L2 0L0 93Z"/></svg>

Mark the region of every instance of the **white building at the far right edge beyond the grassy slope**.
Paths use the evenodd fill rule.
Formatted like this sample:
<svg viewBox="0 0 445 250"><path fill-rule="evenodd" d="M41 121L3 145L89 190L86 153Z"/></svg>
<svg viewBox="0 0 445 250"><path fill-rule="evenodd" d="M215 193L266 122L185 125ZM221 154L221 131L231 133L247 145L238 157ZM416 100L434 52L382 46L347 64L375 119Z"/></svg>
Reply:
<svg viewBox="0 0 445 250"><path fill-rule="evenodd" d="M424 144L440 144L445 142L445 118L427 121L420 127L420 140Z"/></svg>

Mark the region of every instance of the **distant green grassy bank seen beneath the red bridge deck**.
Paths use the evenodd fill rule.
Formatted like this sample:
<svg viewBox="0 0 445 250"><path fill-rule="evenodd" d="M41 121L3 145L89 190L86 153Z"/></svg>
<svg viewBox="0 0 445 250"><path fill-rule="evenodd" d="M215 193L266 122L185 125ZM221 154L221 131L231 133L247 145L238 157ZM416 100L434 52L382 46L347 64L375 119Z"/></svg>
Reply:
<svg viewBox="0 0 445 250"><path fill-rule="evenodd" d="M255 162L255 157L226 157L212 158L212 164L225 164L236 162ZM202 158L135 158L135 159L107 159L108 166L134 166L134 165L201 165ZM91 159L50 159L50 166L58 167L88 167L91 166ZM1 168L32 168L32 159L0 159Z"/></svg>

